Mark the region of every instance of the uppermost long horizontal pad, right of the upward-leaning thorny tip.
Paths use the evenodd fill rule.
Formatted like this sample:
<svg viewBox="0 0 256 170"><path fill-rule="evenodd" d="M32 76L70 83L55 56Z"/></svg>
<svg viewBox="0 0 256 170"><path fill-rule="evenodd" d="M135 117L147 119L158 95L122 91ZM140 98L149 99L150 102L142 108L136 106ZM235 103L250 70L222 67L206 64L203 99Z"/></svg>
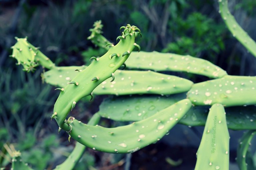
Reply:
<svg viewBox="0 0 256 170"><path fill-rule="evenodd" d="M187 72L215 79L227 75L226 71L207 60L189 55L182 56L156 51L134 52L131 54L131 58L126 61L126 65L132 69Z"/></svg>

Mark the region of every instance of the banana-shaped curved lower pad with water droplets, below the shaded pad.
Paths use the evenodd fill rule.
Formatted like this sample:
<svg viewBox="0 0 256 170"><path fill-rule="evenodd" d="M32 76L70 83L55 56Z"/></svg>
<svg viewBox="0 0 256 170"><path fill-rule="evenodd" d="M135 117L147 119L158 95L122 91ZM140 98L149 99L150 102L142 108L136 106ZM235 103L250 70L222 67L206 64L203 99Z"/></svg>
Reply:
<svg viewBox="0 0 256 170"><path fill-rule="evenodd" d="M191 102L184 99L144 120L115 128L90 126L74 119L70 135L93 150L132 153L160 140L190 107Z"/></svg>

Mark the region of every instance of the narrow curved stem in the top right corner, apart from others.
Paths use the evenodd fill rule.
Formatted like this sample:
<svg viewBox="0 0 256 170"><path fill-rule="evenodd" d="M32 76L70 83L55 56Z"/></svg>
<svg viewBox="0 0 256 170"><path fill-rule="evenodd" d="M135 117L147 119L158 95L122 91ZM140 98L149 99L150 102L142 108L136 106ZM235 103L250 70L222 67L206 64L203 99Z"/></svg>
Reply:
<svg viewBox="0 0 256 170"><path fill-rule="evenodd" d="M228 9L228 1L218 0L218 2L220 8L219 13L233 37L235 37L249 52L251 52L252 55L254 55L254 57L256 57L256 43L236 22L234 16Z"/></svg>

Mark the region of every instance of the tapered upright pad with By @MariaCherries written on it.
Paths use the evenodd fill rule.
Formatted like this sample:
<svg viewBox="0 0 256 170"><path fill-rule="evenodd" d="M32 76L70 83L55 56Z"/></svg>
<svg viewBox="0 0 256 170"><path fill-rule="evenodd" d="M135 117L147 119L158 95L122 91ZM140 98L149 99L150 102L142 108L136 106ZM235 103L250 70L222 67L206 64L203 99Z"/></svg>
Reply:
<svg viewBox="0 0 256 170"><path fill-rule="evenodd" d="M223 105L214 104L208 114L197 151L195 170L229 168L229 133Z"/></svg>

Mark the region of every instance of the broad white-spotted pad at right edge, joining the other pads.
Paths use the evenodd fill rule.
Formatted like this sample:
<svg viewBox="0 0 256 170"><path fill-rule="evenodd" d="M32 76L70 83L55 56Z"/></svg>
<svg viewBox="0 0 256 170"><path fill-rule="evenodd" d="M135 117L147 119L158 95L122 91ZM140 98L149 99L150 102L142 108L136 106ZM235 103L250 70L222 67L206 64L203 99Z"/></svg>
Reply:
<svg viewBox="0 0 256 170"><path fill-rule="evenodd" d="M256 77L224 76L221 79L192 85L187 93L188 99L195 105L224 106L256 104Z"/></svg>

